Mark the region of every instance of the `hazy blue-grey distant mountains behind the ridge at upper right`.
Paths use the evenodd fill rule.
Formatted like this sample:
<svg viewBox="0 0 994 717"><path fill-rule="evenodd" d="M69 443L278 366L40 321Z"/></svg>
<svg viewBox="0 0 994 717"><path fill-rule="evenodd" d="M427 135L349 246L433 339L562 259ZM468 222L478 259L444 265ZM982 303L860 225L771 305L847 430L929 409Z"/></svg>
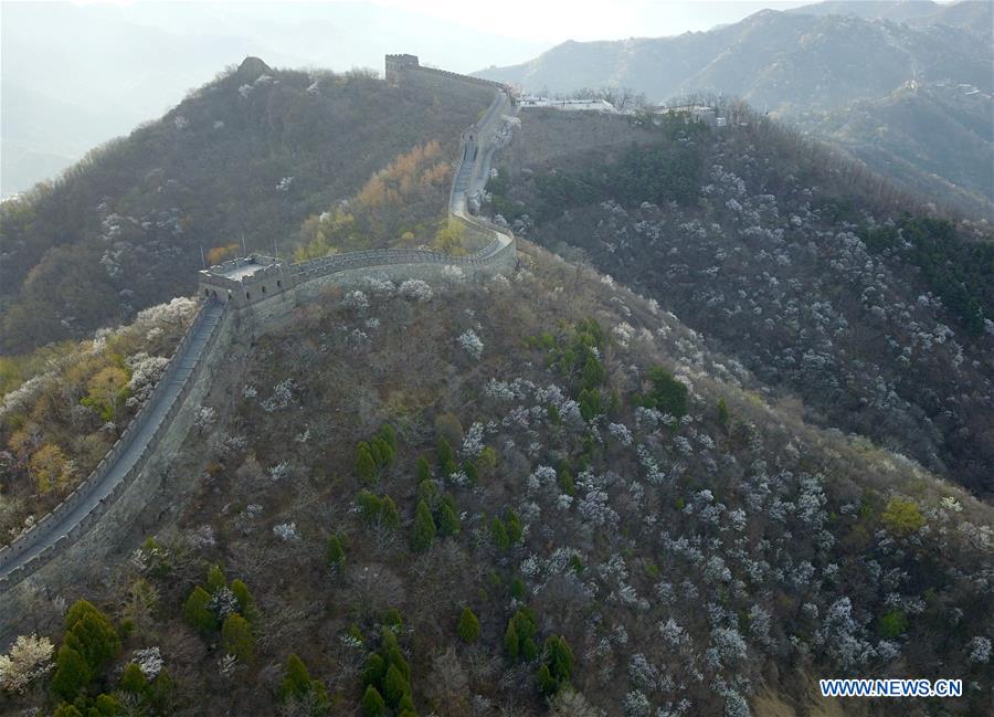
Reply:
<svg viewBox="0 0 994 717"><path fill-rule="evenodd" d="M971 8L953 6L941 12L969 14ZM963 211L994 217L994 176L966 170L971 178L964 179L961 171L994 151L990 123L979 133L966 129L979 126L976 113L956 98L979 96L966 104L986 102L990 114L992 64L990 27L984 35L941 23L912 27L852 14L766 10L732 25L677 38L565 42L527 63L477 74L526 92L625 86L652 102L696 93L739 96L791 122L803 117L802 127L853 150L906 187ZM898 117L893 96L911 86L908 83L943 88L932 91L928 102L906 98ZM846 135L840 126L854 103L868 104L852 118ZM812 122L813 115L823 117ZM896 127L887 124L898 120ZM951 150L941 158L931 156L938 130L947 133L940 144ZM890 155L902 165L885 161Z"/></svg>

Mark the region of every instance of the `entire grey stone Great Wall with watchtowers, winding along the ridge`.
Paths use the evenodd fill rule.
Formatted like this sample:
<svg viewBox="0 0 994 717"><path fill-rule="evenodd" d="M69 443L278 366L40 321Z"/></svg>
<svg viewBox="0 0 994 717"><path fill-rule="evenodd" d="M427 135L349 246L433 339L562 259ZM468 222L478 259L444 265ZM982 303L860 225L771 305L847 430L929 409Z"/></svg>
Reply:
<svg viewBox="0 0 994 717"><path fill-rule="evenodd" d="M0 636L31 605L36 592L51 592L114 550L124 529L144 509L170 471L193 413L223 359L240 336L290 316L327 286L348 286L370 276L392 281L484 281L517 264L514 235L470 213L484 189L499 146L504 117L511 110L507 87L476 77L423 67L414 55L387 55L385 77L435 92L457 83L485 86L495 97L479 120L463 133L450 193L450 221L464 228L477 251L452 256L421 250L372 250L334 254L290 264L250 255L200 272L200 306L156 388L96 470L59 506L0 549ZM31 579L29 579L31 578Z"/></svg>

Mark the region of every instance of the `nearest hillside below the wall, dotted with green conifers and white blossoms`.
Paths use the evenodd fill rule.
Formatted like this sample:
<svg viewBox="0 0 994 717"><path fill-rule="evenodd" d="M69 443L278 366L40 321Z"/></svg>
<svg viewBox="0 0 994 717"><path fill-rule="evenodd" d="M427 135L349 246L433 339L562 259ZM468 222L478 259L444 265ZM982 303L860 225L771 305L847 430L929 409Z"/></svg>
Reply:
<svg viewBox="0 0 994 717"><path fill-rule="evenodd" d="M35 595L30 629L99 669L13 709L82 684L156 715L863 714L812 676L940 661L967 690L944 708L990 705L990 506L521 252L509 281L370 277L239 342L154 538Z"/></svg>

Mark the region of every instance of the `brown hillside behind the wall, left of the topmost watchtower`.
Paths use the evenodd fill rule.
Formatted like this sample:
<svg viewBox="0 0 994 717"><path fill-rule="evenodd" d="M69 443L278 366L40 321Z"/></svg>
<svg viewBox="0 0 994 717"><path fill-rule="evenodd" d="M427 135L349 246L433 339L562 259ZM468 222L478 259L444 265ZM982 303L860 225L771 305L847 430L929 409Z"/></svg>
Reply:
<svg viewBox="0 0 994 717"><path fill-rule="evenodd" d="M434 141L451 157L489 99L246 60L0 207L2 352L81 337L191 293L201 251L215 261L244 242L289 254L302 222L398 156Z"/></svg>

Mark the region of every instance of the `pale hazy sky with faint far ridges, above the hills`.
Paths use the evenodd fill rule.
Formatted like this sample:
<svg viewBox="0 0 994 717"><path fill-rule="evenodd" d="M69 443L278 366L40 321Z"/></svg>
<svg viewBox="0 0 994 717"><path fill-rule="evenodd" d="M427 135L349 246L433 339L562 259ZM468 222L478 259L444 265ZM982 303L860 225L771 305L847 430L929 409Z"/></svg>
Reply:
<svg viewBox="0 0 994 717"><path fill-rule="evenodd" d="M161 116L225 66L383 71L409 52L468 73L567 40L675 35L787 0L341 0L11 2L0 0L0 193Z"/></svg>

